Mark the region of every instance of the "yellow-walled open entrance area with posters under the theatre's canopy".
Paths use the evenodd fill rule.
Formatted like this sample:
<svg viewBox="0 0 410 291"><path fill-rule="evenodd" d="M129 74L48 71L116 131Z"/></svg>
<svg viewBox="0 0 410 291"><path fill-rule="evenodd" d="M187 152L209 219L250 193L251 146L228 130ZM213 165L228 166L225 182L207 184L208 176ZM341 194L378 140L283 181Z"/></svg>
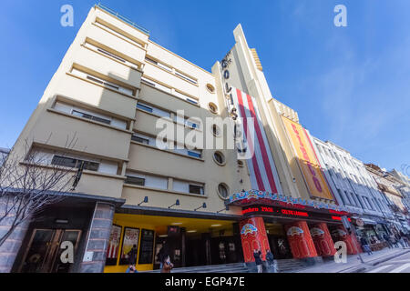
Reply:
<svg viewBox="0 0 410 291"><path fill-rule="evenodd" d="M172 245L171 260L175 260L176 265L207 265L206 258L200 257L195 261L192 258L195 254L190 254L191 249L206 245L204 242L207 240L210 242L212 264L225 263L218 256L228 263L238 261L241 259L237 254L241 252L241 245L238 245L239 234L235 236L235 223L232 220L115 214L104 272L125 273L129 262L127 254L133 245L138 247L136 267L139 272L158 268L156 254L165 241ZM173 230L176 235L172 237L170 232ZM181 247L179 244L182 240L184 243Z"/></svg>

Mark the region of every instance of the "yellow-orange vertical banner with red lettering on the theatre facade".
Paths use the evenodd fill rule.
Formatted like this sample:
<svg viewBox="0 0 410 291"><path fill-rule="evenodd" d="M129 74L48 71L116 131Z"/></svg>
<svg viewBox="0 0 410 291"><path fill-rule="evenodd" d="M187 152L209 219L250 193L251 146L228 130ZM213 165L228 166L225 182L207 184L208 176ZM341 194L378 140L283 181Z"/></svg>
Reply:
<svg viewBox="0 0 410 291"><path fill-rule="evenodd" d="M311 196L333 200L308 133L302 125L283 115L282 121L291 138L298 164Z"/></svg>

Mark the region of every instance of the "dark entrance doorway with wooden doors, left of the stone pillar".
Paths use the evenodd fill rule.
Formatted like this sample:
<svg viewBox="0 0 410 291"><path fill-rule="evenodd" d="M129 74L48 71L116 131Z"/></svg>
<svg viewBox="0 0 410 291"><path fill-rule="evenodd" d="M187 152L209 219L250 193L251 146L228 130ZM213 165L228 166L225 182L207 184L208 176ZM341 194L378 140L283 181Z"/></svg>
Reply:
<svg viewBox="0 0 410 291"><path fill-rule="evenodd" d="M19 267L23 273L68 273L72 264L63 263L60 256L65 249L62 242L69 241L76 253L81 230L77 229L34 229Z"/></svg>

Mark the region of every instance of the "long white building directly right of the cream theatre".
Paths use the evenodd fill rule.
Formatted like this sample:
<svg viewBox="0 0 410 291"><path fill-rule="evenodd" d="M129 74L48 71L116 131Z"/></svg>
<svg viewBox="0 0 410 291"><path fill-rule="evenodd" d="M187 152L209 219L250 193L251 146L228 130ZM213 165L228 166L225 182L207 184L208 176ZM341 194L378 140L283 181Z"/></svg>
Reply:
<svg viewBox="0 0 410 291"><path fill-rule="evenodd" d="M356 219L361 220L359 226L355 226L357 235L375 241L374 249L385 247L384 235L392 234L389 229L395 216L364 163L330 141L314 138L314 144L337 201L354 214L354 223Z"/></svg>

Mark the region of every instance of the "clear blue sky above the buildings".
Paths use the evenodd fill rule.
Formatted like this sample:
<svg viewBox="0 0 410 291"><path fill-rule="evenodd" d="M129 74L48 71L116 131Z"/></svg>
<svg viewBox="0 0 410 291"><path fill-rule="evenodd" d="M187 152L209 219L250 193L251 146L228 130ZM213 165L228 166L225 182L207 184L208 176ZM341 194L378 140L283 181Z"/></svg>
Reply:
<svg viewBox="0 0 410 291"><path fill-rule="evenodd" d="M0 146L11 147L97 1L3 0ZM60 25L73 5L75 26ZM151 39L210 70L241 23L272 94L302 125L387 169L410 165L410 1L106 0ZM346 5L348 27L333 25Z"/></svg>

